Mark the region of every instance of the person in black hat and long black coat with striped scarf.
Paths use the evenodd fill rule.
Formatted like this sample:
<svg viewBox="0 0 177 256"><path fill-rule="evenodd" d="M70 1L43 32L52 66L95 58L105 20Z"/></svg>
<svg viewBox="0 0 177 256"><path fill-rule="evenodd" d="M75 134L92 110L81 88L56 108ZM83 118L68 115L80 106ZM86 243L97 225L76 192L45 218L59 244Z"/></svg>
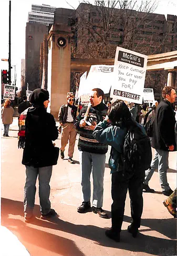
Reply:
<svg viewBox="0 0 177 256"><path fill-rule="evenodd" d="M39 179L39 199L41 219L56 216L50 208L50 178L55 162L56 150L53 140L58 138L54 117L47 112L49 93L36 89L29 97L32 107L28 109L25 119L25 148L22 164L26 166L26 183L24 187L25 222L33 218L35 204L36 179Z"/></svg>

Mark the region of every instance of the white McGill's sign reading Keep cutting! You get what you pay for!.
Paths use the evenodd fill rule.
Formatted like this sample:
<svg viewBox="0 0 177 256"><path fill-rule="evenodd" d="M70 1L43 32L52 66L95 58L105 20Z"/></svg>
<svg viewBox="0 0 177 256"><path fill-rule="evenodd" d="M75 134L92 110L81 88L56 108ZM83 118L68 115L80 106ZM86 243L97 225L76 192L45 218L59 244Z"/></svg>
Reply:
<svg viewBox="0 0 177 256"><path fill-rule="evenodd" d="M117 47L110 97L142 104L148 56Z"/></svg>

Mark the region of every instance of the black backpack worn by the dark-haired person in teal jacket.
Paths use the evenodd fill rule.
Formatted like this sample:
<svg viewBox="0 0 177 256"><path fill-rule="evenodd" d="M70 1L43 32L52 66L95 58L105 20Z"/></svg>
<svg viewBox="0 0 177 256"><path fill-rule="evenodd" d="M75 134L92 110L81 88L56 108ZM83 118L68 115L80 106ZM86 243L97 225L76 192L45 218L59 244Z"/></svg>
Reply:
<svg viewBox="0 0 177 256"><path fill-rule="evenodd" d="M143 134L140 127L131 127L124 139L123 154L121 154L124 172L136 169L147 170L151 165L152 150L150 138Z"/></svg>

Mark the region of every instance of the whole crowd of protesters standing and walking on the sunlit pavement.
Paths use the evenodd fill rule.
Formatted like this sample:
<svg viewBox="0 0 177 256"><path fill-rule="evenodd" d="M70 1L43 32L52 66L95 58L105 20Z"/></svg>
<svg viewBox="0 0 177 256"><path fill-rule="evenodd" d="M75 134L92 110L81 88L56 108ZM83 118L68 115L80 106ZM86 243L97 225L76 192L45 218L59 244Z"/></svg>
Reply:
<svg viewBox="0 0 177 256"><path fill-rule="evenodd" d="M109 167L111 169L111 216L112 225L106 230L106 235L120 241L120 232L123 222L124 207L127 191L130 195L132 223L128 232L136 237L141 224L143 212L143 191L153 193L148 185L155 169L158 169L162 193L168 196L163 202L168 211L176 217L176 189L173 191L167 181L169 168L169 151L176 151L175 137L175 102L176 92L171 87L162 90L162 101L154 102L154 106L139 124L142 108L134 104L131 108L123 100L104 103L105 94L99 88L92 89L90 105L78 108L74 105L73 93L68 93L66 105L59 109L58 121L61 129L60 157L65 158L65 147L68 147L68 162L74 164L73 154L77 133L79 162L81 169L81 187L83 202L77 208L78 213L92 211L100 217L107 219L108 214L102 209L103 205L103 178L105 174L105 160L108 145L111 146ZM49 93L44 89L36 89L30 94L30 105L24 97L19 105L18 112L25 119L25 143L23 151L23 165L26 166L26 183L24 188L24 214L25 222L33 219L35 204L36 179L39 178L39 199L41 219L58 216L51 209L50 178L53 165L57 164L59 148L55 147L54 140L58 138L58 129L54 117L47 113ZM8 136L9 124L13 120L13 108L6 100L2 109L4 135ZM79 105L80 106L80 105ZM129 131L137 129L139 134L146 133L150 120L153 117L152 136L150 145L155 149L155 155L149 168L136 166L130 171L123 164L123 145ZM151 122L152 123L152 122ZM144 128L143 128L144 126ZM22 127L19 125L19 127ZM150 136L149 136L150 137ZM90 175L93 176L93 196L91 197ZM144 190L143 190L144 189Z"/></svg>

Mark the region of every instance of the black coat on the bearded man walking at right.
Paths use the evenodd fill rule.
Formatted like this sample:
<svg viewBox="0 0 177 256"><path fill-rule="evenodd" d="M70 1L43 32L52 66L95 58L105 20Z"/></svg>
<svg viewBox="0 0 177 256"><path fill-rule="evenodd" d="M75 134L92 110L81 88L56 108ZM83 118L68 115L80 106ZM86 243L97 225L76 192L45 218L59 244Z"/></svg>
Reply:
<svg viewBox="0 0 177 256"><path fill-rule="evenodd" d="M163 100L155 111L152 147L168 151L168 146L174 145L174 151L176 151L174 127L175 115L171 103Z"/></svg>

